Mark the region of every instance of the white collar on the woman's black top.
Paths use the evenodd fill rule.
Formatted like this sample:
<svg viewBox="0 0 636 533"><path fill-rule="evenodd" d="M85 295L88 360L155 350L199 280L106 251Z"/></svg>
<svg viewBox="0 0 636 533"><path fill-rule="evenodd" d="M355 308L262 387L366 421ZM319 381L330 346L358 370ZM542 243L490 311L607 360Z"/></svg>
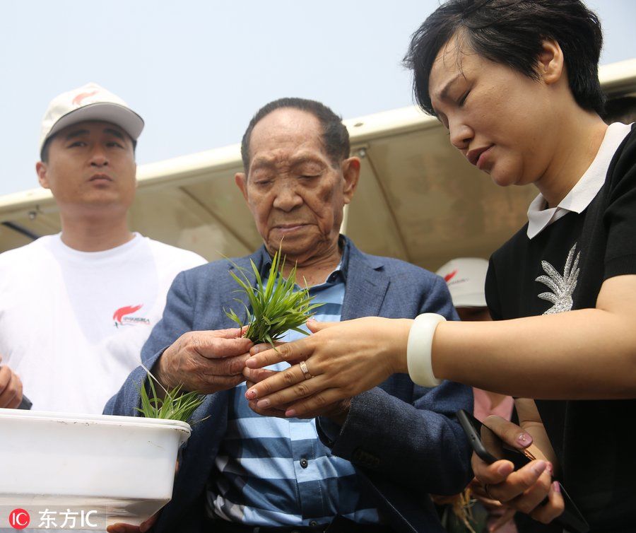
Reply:
<svg viewBox="0 0 636 533"><path fill-rule="evenodd" d="M539 233L551 223L558 221L562 216L570 211L581 213L594 200L596 193L601 190L607 174L607 169L611 160L618 150L618 146L623 142L632 129L631 124L621 124L614 122L610 124L599 153L589 165L589 168L581 176L577 185L567 193L556 207L546 207L546 199L541 194L536 197L528 208L528 238L535 238ZM546 209L543 209L546 208Z"/></svg>

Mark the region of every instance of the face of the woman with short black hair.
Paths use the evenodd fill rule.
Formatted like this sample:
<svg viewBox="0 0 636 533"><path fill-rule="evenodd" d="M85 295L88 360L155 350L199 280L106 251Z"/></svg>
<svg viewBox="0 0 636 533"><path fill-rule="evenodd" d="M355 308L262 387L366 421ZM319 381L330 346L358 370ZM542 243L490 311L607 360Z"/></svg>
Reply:
<svg viewBox="0 0 636 533"><path fill-rule="evenodd" d="M453 146L502 186L534 183L550 165L558 141L552 88L458 45L457 35L437 54L428 85Z"/></svg>

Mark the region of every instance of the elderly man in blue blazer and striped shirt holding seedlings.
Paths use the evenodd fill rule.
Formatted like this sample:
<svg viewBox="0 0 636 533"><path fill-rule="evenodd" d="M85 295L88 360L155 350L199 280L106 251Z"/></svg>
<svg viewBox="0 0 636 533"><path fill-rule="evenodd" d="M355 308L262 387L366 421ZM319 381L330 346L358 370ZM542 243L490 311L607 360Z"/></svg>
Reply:
<svg viewBox="0 0 636 533"><path fill-rule="evenodd" d="M468 443L454 413L471 409L470 389L452 382L424 389L398 375L314 418L285 418L246 401L243 373L258 377L244 364L252 343L224 329L232 326L224 310L237 307L233 264L249 267L252 259L264 276L279 246L283 274L298 265L297 279L324 303L318 320L455 318L444 280L363 254L338 234L360 161L349 157L346 128L328 107L299 98L269 103L249 123L242 157L245 173L235 180L264 246L177 276L143 348L163 385L210 394L194 416L208 418L193 428L155 530L441 530L428 493L456 493L469 481ZM136 415L145 379L143 369L132 373L105 412Z"/></svg>

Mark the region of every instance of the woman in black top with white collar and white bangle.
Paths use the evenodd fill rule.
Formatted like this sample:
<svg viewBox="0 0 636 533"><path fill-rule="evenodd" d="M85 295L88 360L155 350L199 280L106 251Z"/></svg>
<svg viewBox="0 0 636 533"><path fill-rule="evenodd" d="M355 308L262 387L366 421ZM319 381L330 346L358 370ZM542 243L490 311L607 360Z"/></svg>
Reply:
<svg viewBox="0 0 636 533"><path fill-rule="evenodd" d="M541 458L513 472L473 457L488 493L549 522L557 474L593 530L636 527L636 133L599 117L601 41L579 0L450 0L420 26L406 57L420 106L497 185L540 193L491 258L497 322L310 323L316 334L248 361L306 360L249 389L254 409L315 416L406 371L511 394L522 428L490 423Z"/></svg>

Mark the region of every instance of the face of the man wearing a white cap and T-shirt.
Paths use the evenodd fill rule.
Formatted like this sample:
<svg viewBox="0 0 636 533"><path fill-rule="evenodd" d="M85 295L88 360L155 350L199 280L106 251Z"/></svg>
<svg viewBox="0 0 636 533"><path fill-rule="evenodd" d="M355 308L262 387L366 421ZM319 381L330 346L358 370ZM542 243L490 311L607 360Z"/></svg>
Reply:
<svg viewBox="0 0 636 533"><path fill-rule="evenodd" d="M40 185L64 213L127 210L136 188L133 142L110 122L78 122L49 141L48 161L37 163Z"/></svg>

